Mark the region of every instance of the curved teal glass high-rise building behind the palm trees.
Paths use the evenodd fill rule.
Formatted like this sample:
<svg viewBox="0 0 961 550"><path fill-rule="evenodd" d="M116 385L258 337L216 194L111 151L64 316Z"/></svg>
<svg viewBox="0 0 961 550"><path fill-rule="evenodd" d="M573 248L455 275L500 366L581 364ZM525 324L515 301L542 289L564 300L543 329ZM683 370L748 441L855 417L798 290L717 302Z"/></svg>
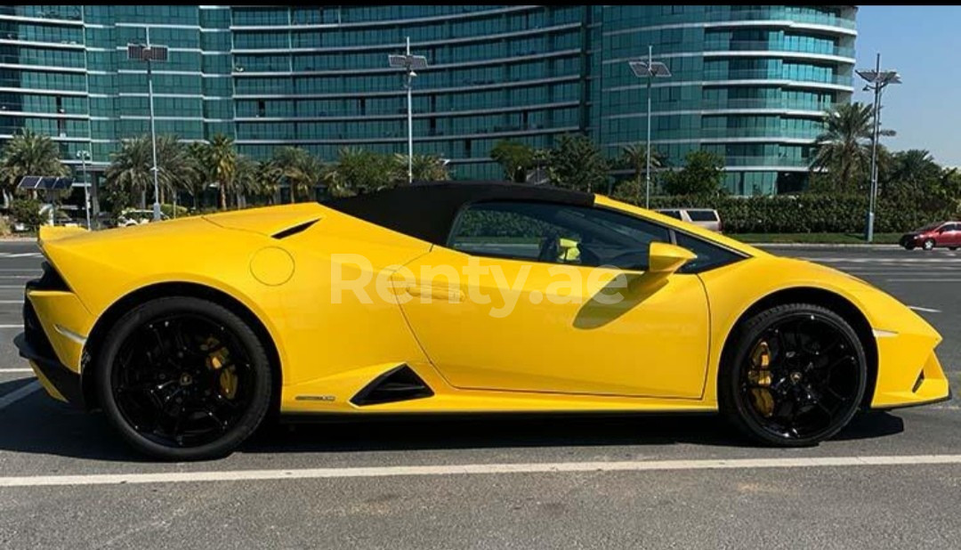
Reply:
<svg viewBox="0 0 961 550"><path fill-rule="evenodd" d="M582 132L616 156L647 133L680 165L724 157L738 194L804 184L820 117L850 101L854 6L5 6L0 141L52 136L65 162L102 170L120 139L149 132L146 67L127 45L169 47L153 63L159 134L226 134L241 153L283 145L331 161L341 147L407 150L405 79L387 65L409 37L430 66L413 84L417 153L457 178L499 178L501 139L548 147Z"/></svg>

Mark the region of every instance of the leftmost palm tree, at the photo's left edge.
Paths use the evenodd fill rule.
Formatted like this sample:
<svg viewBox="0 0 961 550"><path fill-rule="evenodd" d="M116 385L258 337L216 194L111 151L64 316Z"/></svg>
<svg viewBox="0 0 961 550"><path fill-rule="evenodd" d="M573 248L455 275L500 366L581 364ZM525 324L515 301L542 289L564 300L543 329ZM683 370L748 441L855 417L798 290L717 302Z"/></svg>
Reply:
<svg viewBox="0 0 961 550"><path fill-rule="evenodd" d="M9 204L13 189L23 176L65 176L60 149L49 136L24 129L14 135L0 156L0 184L4 203Z"/></svg>

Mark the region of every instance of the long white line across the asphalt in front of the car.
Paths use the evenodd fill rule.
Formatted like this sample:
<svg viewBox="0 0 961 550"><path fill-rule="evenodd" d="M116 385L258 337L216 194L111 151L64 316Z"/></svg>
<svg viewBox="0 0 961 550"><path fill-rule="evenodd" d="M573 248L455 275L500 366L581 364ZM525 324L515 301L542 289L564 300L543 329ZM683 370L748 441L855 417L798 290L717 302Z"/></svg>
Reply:
<svg viewBox="0 0 961 550"><path fill-rule="evenodd" d="M809 457L729 460L709 459L699 461L533 462L513 464L447 464L424 466L303 468L287 470L213 470L199 472L157 472L142 474L128 473L78 474L61 476L14 476L0 477L0 487L92 486L120 484L133 485L479 474L569 472L596 473L618 471L645 472L667 470L724 470L850 466L917 466L923 464L961 464L961 455Z"/></svg>

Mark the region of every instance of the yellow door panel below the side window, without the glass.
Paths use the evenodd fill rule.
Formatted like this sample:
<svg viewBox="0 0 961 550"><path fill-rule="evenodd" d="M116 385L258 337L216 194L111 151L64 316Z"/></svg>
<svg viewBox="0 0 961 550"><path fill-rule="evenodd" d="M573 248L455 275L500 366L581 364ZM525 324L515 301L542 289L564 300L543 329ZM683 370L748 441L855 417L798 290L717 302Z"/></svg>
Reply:
<svg viewBox="0 0 961 550"><path fill-rule="evenodd" d="M436 246L406 267L415 274L438 265L462 272L470 259ZM638 288L607 305L599 292L621 273L617 269L481 258L478 271L476 282L453 289L459 299L440 293L431 300L409 296L402 304L431 362L452 386L701 397L708 312L697 275L669 277L663 286ZM430 286L431 280L417 284ZM446 285L443 278L433 280L433 288Z"/></svg>

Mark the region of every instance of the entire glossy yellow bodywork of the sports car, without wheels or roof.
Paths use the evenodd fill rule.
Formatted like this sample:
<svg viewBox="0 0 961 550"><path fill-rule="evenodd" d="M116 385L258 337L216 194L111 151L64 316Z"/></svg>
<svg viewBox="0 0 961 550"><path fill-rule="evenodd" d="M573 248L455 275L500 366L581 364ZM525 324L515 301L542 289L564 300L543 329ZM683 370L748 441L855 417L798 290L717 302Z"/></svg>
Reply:
<svg viewBox="0 0 961 550"><path fill-rule="evenodd" d="M277 349L283 412L671 412L717 409L727 337L752 305L778 291L817 288L853 305L873 331L872 406L947 397L933 351L941 337L885 292L604 196L595 197L595 206L720 244L744 259L664 276L567 265L581 282L552 287L564 280L552 272L559 265L478 258L306 204L96 233L41 230L42 252L68 289L28 290L28 299L60 362L83 376L86 338L125 297L169 284L230 296L259 319ZM299 229L272 237L291 228ZM562 244L562 257L575 260L576 243ZM461 270L472 259L503 277L490 271L473 286L422 277L425 267ZM590 281L588 271L600 276ZM505 306L497 296L509 294L522 272L527 283L515 290L512 312L491 315ZM600 302L599 288L622 274L628 300ZM334 285L335 275L349 288ZM379 280L388 291L377 289ZM473 300L478 289L490 290L482 293L494 294L493 301ZM565 296L572 299L552 301ZM352 403L372 379L399 365L414 370L432 395Z"/></svg>

